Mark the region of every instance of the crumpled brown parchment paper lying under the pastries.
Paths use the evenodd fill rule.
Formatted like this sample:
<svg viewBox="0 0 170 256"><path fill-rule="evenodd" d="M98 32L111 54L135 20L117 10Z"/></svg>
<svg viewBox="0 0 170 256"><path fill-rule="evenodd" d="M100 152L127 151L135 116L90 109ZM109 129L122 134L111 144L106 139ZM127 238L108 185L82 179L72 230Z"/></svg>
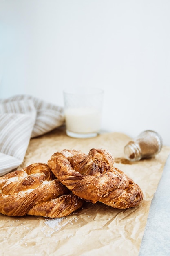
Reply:
<svg viewBox="0 0 170 256"><path fill-rule="evenodd" d="M136 256L148 218L150 203L161 178L170 147L163 146L152 159L129 162L124 146L130 137L106 133L91 139L74 139L63 127L31 139L24 162L47 163L53 153L77 149L88 153L91 148L110 150L114 166L124 171L142 189L144 199L138 207L113 209L102 203L85 203L82 209L64 218L40 216L9 217L0 214L0 253L3 256Z"/></svg>

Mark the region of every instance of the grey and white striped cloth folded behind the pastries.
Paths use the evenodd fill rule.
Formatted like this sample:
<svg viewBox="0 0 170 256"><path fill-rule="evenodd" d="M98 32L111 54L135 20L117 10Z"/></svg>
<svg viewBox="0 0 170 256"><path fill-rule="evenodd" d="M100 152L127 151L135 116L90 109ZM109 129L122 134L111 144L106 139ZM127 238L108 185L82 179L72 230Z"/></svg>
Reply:
<svg viewBox="0 0 170 256"><path fill-rule="evenodd" d="M60 106L28 95L0 99L0 176L23 162L31 138L62 124Z"/></svg>

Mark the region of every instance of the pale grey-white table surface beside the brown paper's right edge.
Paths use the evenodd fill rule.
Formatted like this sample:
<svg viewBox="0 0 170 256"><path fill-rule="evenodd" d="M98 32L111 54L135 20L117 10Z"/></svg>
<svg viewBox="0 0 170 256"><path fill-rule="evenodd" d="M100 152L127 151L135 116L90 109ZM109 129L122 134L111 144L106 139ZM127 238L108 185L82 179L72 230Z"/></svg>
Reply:
<svg viewBox="0 0 170 256"><path fill-rule="evenodd" d="M151 202L139 256L170 256L170 155Z"/></svg>

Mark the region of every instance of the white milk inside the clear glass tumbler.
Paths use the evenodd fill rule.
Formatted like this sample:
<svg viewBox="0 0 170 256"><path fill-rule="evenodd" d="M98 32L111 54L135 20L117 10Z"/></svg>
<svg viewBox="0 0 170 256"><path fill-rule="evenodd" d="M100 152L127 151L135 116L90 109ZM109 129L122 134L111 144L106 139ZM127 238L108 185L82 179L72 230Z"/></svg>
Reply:
<svg viewBox="0 0 170 256"><path fill-rule="evenodd" d="M70 132L93 133L98 132L101 126L101 112L96 108L68 108L65 117Z"/></svg>

